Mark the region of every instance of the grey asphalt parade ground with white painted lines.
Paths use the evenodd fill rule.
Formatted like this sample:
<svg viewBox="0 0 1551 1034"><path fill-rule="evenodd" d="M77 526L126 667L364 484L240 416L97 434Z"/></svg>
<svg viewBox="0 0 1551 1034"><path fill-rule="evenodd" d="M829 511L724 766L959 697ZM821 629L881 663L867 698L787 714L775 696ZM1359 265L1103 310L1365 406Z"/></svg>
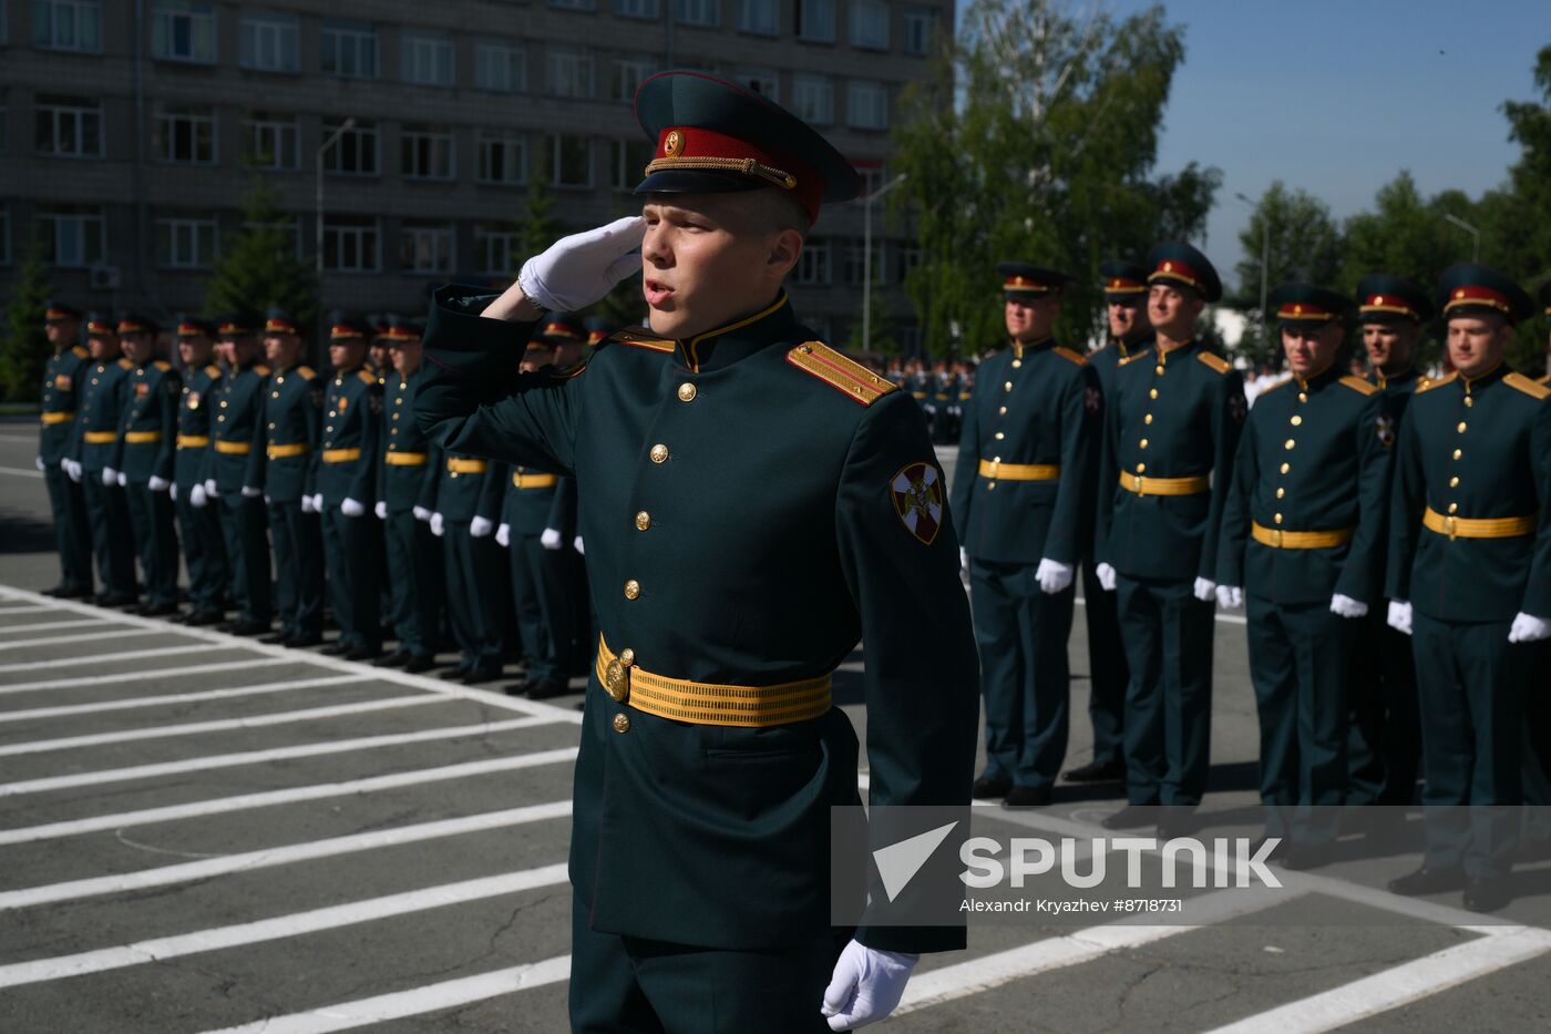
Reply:
<svg viewBox="0 0 1551 1034"><path fill-rule="evenodd" d="M34 455L33 424L0 424L0 1031L565 1031L583 683L537 703L39 596ZM1083 633L1079 607L1069 764ZM859 731L862 663L836 680ZM1224 613L1204 823L1256 832L1255 755ZM1112 837L1120 804L1061 784L977 815ZM1204 891L1193 927L974 925L878 1029L1551 1029L1551 860L1515 873L1517 922L1382 890L1415 865L1351 851L1287 893Z"/></svg>

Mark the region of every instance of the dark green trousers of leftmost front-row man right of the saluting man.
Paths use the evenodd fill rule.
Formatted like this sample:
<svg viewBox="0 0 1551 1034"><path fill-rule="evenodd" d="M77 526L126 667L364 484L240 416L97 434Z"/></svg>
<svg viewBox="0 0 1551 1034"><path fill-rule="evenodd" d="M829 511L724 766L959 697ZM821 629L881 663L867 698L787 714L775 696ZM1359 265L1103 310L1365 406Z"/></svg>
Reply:
<svg viewBox="0 0 1551 1034"><path fill-rule="evenodd" d="M985 776L1044 789L1066 758L1076 588L1045 595L1036 570L971 559L969 601L985 697Z"/></svg>

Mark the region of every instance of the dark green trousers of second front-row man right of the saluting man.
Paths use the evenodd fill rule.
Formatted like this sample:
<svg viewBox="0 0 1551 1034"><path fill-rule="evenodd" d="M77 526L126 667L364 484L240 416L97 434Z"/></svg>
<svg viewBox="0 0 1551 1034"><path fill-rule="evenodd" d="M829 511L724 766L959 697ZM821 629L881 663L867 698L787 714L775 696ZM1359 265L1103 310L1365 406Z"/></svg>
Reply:
<svg viewBox="0 0 1551 1034"><path fill-rule="evenodd" d="M1126 689L1126 800L1193 807L1211 764L1214 609L1191 582L1117 576Z"/></svg>

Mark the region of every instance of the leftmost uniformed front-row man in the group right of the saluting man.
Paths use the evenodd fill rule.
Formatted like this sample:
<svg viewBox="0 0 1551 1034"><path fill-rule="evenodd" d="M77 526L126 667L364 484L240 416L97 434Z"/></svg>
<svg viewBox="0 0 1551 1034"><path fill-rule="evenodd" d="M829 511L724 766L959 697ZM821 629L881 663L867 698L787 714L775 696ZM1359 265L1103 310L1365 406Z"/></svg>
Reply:
<svg viewBox="0 0 1551 1034"><path fill-rule="evenodd" d="M969 568L985 772L977 798L1048 804L1066 758L1072 576L1093 512L1098 376L1055 343L1072 279L1002 262L1008 342L980 363L959 441L954 528Z"/></svg>

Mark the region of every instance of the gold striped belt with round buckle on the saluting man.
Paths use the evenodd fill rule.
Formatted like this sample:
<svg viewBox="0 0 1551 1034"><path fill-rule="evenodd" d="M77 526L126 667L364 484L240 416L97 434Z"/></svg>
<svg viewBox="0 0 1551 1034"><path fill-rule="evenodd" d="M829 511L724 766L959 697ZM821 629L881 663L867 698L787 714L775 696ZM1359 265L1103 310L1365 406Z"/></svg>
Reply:
<svg viewBox="0 0 1551 1034"><path fill-rule="evenodd" d="M807 722L830 711L830 675L774 686L718 686L655 675L636 666L636 652L616 655L597 637L597 680L617 703L695 725L766 727Z"/></svg>

